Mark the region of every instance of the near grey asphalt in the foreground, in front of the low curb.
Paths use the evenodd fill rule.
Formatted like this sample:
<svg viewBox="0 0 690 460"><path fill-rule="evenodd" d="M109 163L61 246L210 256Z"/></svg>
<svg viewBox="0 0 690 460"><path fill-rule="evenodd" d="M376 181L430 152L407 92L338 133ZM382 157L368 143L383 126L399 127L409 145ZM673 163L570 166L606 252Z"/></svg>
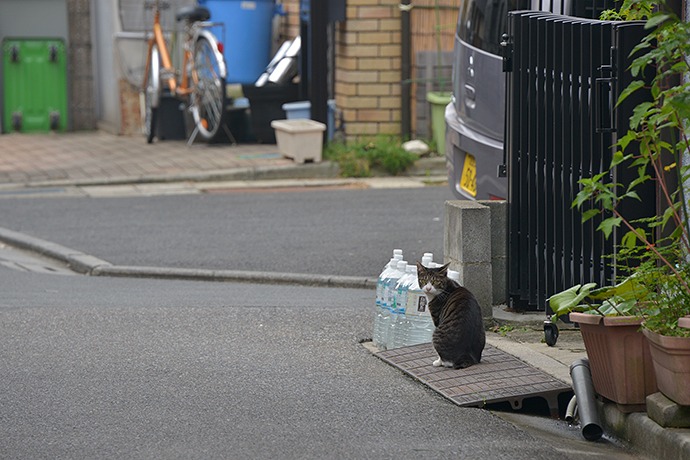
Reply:
<svg viewBox="0 0 690 460"><path fill-rule="evenodd" d="M0 458L510 458L557 450L372 356L372 292L0 267Z"/></svg>

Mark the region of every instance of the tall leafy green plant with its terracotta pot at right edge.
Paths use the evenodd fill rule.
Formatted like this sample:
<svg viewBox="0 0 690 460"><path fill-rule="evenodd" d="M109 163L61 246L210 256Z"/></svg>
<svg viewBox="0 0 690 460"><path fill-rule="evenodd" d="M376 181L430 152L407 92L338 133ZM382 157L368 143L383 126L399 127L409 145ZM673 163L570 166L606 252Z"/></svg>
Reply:
<svg viewBox="0 0 690 460"><path fill-rule="evenodd" d="M627 9L627 10L626 10ZM618 103L637 91L649 92L630 118L630 130L619 138L611 169L580 181L574 206L583 221L601 216L599 230L608 237L627 232L629 254L637 260L636 310L651 345L659 390L673 401L690 405L690 329L681 327L690 315L690 238L685 184L690 178L690 24L681 21L663 1L626 0L622 12L647 16L649 35L635 48L630 67L634 80ZM651 85L642 76L651 74ZM684 164L685 163L685 164ZM633 168L630 184L611 180L614 168ZM640 200L642 184L656 184L656 215L630 221L619 212L622 202ZM680 185L673 185L680 184ZM680 326L679 326L680 323Z"/></svg>

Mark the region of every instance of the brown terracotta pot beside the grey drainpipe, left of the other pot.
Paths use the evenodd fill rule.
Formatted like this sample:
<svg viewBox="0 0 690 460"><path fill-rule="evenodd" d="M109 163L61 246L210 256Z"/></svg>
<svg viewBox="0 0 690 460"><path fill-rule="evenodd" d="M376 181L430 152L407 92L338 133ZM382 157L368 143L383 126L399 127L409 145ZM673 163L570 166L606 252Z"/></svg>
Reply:
<svg viewBox="0 0 690 460"><path fill-rule="evenodd" d="M644 411L647 395L658 390L642 319L573 312L570 320L580 325L594 390L623 412Z"/></svg>

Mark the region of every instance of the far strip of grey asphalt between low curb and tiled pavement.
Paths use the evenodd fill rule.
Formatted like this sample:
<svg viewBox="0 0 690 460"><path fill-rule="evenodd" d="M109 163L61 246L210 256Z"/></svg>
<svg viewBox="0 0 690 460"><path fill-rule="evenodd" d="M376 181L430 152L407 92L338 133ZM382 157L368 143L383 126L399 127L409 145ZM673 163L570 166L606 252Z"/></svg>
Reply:
<svg viewBox="0 0 690 460"><path fill-rule="evenodd" d="M0 200L0 226L117 265L375 277L443 259L445 186Z"/></svg>

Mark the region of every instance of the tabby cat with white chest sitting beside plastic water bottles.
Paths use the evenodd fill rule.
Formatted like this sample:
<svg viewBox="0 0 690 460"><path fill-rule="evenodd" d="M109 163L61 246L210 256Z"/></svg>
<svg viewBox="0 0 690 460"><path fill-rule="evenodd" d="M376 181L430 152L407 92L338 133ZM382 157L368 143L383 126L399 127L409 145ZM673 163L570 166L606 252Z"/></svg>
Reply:
<svg viewBox="0 0 690 460"><path fill-rule="evenodd" d="M448 278L448 265L426 268L417 262L417 278L436 326L432 343L439 358L433 365L464 369L481 360L486 336L477 299Z"/></svg>

